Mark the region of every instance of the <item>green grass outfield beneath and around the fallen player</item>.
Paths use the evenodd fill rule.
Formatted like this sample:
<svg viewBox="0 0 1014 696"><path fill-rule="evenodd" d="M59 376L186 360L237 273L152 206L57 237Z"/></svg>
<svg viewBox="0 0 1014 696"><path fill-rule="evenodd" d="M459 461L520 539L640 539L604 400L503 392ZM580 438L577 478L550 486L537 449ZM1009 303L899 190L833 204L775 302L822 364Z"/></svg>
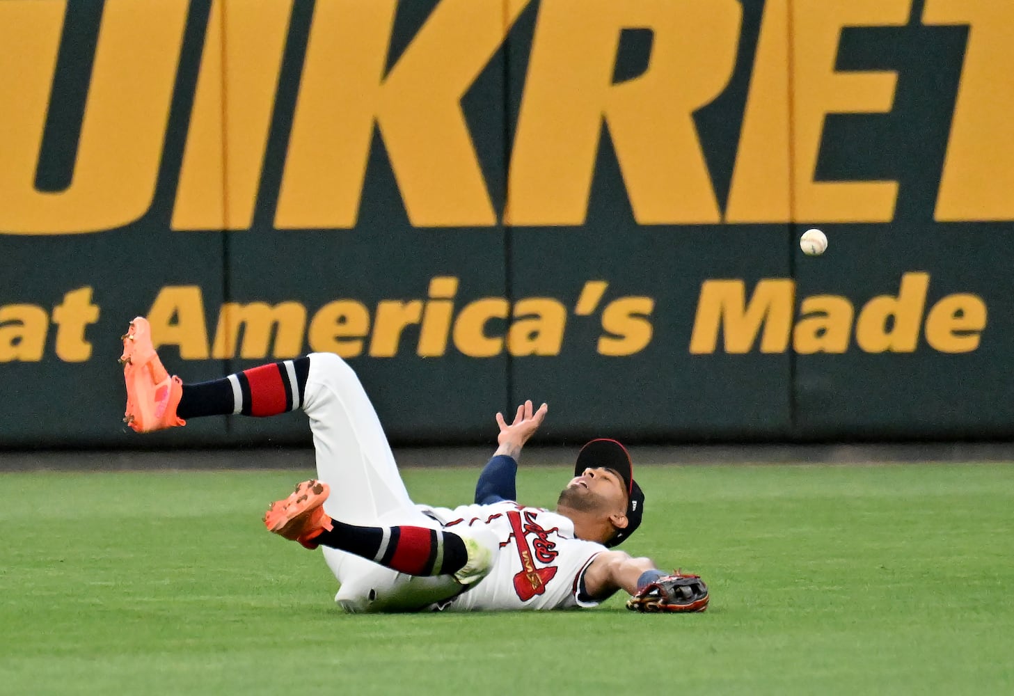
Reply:
<svg viewBox="0 0 1014 696"><path fill-rule="evenodd" d="M1014 467L644 467L626 545L701 615L345 615L265 532L311 472L0 475L5 694L1014 692ZM470 498L475 469L409 470ZM519 474L552 506L565 469Z"/></svg>

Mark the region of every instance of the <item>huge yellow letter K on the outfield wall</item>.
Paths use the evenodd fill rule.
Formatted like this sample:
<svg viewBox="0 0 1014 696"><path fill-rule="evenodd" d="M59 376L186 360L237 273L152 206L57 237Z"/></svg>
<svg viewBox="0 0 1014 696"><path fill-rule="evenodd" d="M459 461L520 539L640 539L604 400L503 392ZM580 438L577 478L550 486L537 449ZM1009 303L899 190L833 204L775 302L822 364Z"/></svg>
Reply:
<svg viewBox="0 0 1014 696"><path fill-rule="evenodd" d="M443 0L383 77L396 0L317 0L275 225L355 225L374 123L414 225L495 224L461 97L527 3Z"/></svg>

